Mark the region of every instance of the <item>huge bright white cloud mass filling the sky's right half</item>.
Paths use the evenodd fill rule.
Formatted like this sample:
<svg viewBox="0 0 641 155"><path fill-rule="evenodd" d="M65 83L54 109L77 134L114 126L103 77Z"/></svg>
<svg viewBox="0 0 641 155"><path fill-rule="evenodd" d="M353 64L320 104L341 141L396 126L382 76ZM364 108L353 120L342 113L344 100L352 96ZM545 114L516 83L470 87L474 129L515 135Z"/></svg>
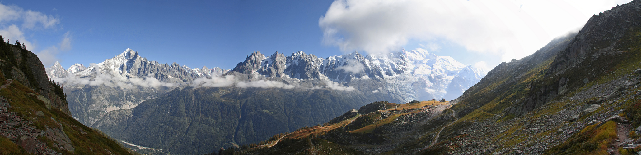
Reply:
<svg viewBox="0 0 641 155"><path fill-rule="evenodd" d="M467 50L532 54L556 36L582 27L600 11L629 0L336 0L319 26L324 42L345 52L386 53L419 40L446 40Z"/></svg>

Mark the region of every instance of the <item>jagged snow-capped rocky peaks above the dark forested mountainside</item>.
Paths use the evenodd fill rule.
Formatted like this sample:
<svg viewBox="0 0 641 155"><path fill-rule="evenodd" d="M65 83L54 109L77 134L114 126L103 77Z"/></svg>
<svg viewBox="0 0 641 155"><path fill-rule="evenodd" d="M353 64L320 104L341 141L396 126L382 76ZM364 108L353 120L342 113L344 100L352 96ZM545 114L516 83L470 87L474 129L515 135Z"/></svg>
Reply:
<svg viewBox="0 0 641 155"><path fill-rule="evenodd" d="M390 101L409 101L455 98L485 76L478 68L420 48L378 55L353 52L327 59L302 51L287 57L279 52L269 57L253 52L232 70L160 64L128 48L103 63L88 67L74 64L64 70L56 62L46 71L49 78L63 85L69 98L77 99L70 100L70 109L76 119L87 125L112 110L133 108L175 87L193 85L198 78L234 75L233 80L237 81L284 80L288 85L310 89L333 85L345 89L347 83L367 79L386 84L362 91L387 94ZM313 80L324 82L314 85Z"/></svg>

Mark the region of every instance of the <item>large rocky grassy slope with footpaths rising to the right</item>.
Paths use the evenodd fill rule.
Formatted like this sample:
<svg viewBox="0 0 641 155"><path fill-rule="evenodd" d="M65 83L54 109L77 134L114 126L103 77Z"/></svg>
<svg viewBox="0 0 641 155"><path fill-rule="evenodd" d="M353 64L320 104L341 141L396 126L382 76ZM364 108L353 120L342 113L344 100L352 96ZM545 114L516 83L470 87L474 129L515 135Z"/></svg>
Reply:
<svg viewBox="0 0 641 155"><path fill-rule="evenodd" d="M640 13L635 0L594 15L450 102L375 102L213 154L638 154Z"/></svg>

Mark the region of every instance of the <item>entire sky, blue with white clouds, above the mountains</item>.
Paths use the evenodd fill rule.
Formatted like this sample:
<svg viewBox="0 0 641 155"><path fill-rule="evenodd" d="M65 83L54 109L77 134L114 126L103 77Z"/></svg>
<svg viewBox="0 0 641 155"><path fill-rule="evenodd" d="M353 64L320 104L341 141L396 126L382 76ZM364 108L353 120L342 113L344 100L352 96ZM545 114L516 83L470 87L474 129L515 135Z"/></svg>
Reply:
<svg viewBox="0 0 641 155"><path fill-rule="evenodd" d="M65 68L126 48L160 63L229 69L253 51L328 57L420 47L487 70L627 2L2 1L0 34Z"/></svg>

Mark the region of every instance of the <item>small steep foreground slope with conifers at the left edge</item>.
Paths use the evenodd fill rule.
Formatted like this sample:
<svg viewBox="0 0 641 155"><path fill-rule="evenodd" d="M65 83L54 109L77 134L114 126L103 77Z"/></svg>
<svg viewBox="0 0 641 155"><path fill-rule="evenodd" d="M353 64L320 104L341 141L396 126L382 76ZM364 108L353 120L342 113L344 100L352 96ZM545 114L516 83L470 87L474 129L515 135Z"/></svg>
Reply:
<svg viewBox="0 0 641 155"><path fill-rule="evenodd" d="M0 67L0 154L131 154L71 117L62 87L24 45L0 42Z"/></svg>

